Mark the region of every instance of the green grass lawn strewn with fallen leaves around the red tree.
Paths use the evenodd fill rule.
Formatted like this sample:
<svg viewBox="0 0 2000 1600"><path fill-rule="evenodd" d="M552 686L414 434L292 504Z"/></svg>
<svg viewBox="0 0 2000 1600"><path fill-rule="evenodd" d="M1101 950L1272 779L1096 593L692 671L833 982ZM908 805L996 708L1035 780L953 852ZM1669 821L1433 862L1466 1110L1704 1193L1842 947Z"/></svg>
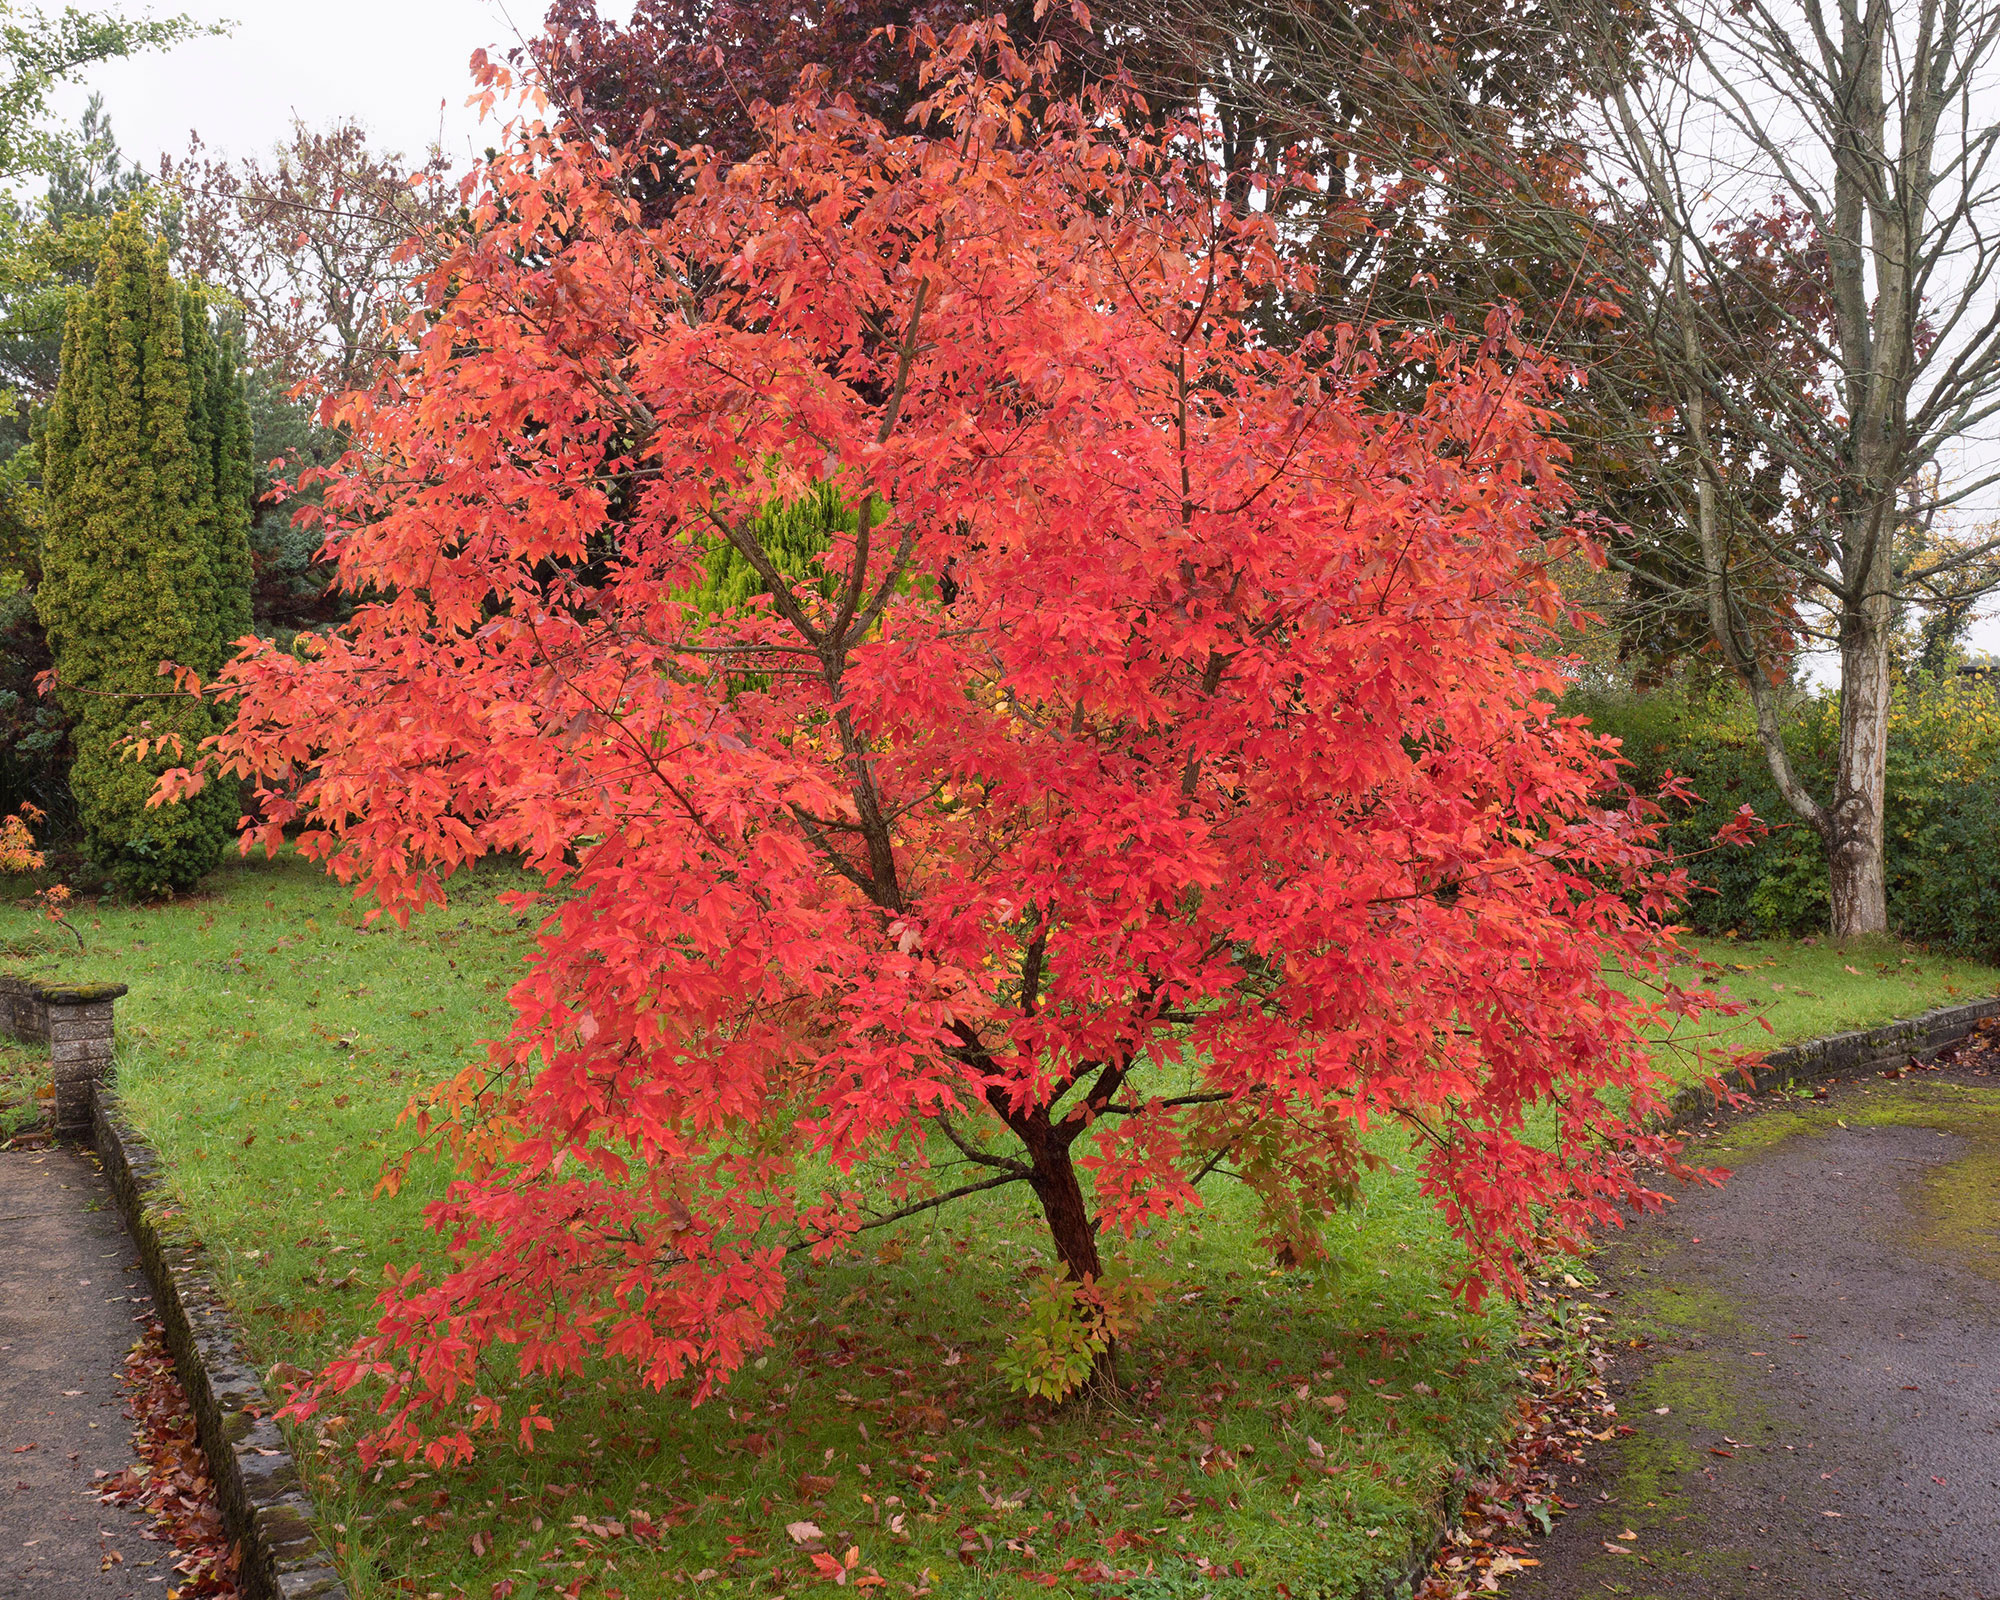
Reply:
<svg viewBox="0 0 2000 1600"><path fill-rule="evenodd" d="M386 1262L434 1258L420 1212L442 1174L420 1160L396 1198L370 1190L410 1092L506 1022L526 932L502 882L370 932L302 862L230 866L168 908L74 912L80 954L0 908L8 970L130 984L120 1094L266 1370L318 1366L368 1326ZM1706 956L1782 1038L2000 988L1890 946ZM894 1596L1346 1596L1514 1404L1514 1314L1446 1296L1456 1246L1402 1172L1372 1174L1312 1272L1272 1270L1226 1190L1142 1234L1128 1254L1162 1312L1116 1402L1060 1412L996 1372L1048 1258L1032 1208L1002 1192L870 1240L802 1266L774 1350L700 1410L590 1374L534 1392L558 1418L534 1454L452 1474L362 1478L338 1448L360 1414L302 1434L356 1600L830 1590L816 1552L854 1552L850 1582ZM1106 1572L1128 1576L1092 1584Z"/></svg>

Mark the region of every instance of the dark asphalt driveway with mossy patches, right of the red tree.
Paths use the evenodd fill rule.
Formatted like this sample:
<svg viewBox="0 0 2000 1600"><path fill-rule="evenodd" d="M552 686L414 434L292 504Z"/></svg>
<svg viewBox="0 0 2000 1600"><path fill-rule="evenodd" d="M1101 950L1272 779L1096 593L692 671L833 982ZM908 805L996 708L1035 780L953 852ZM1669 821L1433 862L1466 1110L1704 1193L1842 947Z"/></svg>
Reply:
<svg viewBox="0 0 2000 1600"><path fill-rule="evenodd" d="M2000 1050L1694 1140L1592 1262L1632 1436L1520 1600L2000 1600Z"/></svg>

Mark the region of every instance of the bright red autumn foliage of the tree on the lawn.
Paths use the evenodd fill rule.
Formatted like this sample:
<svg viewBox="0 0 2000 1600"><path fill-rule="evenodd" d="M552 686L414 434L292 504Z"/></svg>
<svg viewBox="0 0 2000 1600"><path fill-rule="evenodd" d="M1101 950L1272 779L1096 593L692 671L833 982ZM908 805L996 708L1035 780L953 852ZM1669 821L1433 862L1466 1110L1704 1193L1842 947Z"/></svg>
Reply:
<svg viewBox="0 0 2000 1600"><path fill-rule="evenodd" d="M1302 270L1264 218L1112 108L1018 116L998 30L946 60L926 126L808 86L662 224L510 138L348 408L366 602L216 686L254 838L396 916L494 852L546 882L510 1036L422 1108L452 1266L328 1376L386 1386L378 1452L532 1438L502 1352L698 1400L788 1252L936 1198L1028 1184L1094 1280L1232 1174L1296 1262L1392 1124L1478 1296L1670 1150L1620 1104L1692 1002L1608 974L1682 882L1534 654L1532 352L1496 314L1370 412L1392 350L1254 332ZM812 496L786 570L762 516ZM718 610L724 546L764 588Z"/></svg>

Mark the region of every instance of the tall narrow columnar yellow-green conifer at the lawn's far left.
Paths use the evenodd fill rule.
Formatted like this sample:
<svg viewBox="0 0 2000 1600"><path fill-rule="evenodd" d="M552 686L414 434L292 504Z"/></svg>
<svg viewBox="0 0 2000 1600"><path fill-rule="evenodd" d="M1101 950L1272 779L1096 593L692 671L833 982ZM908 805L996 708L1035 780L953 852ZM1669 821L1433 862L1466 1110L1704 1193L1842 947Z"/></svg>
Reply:
<svg viewBox="0 0 2000 1600"><path fill-rule="evenodd" d="M212 674L250 628L250 448L234 356L136 210L70 298L62 380L40 430L46 532L36 610L76 720L70 788L84 846L140 896L192 888L236 820L230 784L148 806L166 766L214 732L160 662ZM126 756L132 736L184 756Z"/></svg>

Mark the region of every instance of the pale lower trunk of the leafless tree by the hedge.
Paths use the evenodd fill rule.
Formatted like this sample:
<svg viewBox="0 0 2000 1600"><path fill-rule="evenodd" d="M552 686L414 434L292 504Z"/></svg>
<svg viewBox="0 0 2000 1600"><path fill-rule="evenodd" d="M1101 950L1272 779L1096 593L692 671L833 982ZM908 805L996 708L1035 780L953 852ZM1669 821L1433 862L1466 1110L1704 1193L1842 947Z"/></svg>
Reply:
<svg viewBox="0 0 2000 1600"><path fill-rule="evenodd" d="M1834 938L1888 932L1888 878L1882 864L1882 802L1888 790L1888 628L1886 600L1854 608L1840 640L1840 754L1828 810L1826 860L1832 876Z"/></svg>

